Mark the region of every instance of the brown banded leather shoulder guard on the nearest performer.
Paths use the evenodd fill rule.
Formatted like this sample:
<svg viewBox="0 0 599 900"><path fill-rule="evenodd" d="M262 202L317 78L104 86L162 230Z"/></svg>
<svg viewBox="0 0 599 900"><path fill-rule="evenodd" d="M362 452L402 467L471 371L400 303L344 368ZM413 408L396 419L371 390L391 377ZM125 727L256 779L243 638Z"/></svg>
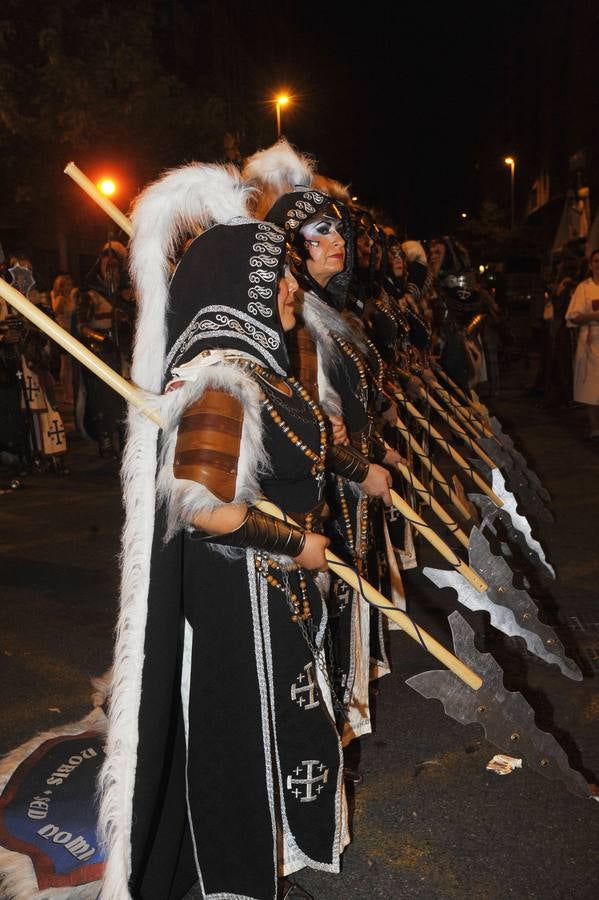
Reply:
<svg viewBox="0 0 599 900"><path fill-rule="evenodd" d="M179 422L173 474L195 481L224 503L235 498L243 407L232 394L206 390Z"/></svg>

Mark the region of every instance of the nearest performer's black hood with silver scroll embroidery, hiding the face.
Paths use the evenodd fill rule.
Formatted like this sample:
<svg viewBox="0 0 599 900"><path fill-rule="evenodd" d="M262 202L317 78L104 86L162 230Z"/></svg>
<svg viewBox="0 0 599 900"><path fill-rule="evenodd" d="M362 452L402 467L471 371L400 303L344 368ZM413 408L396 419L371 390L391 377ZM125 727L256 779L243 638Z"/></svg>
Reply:
<svg viewBox="0 0 599 900"><path fill-rule="evenodd" d="M267 222L215 225L197 237L170 285L166 375L204 350L249 354L279 375L289 371L277 307L285 235Z"/></svg>

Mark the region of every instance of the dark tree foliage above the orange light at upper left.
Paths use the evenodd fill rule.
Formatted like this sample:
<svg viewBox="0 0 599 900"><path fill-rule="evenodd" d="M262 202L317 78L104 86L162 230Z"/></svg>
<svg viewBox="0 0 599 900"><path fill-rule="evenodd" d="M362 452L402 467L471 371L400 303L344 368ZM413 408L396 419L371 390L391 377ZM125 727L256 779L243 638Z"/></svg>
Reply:
<svg viewBox="0 0 599 900"><path fill-rule="evenodd" d="M222 157L226 110L209 79L182 77L164 3L4 0L0 197L56 208L62 170L122 161L130 194L165 166Z"/></svg>

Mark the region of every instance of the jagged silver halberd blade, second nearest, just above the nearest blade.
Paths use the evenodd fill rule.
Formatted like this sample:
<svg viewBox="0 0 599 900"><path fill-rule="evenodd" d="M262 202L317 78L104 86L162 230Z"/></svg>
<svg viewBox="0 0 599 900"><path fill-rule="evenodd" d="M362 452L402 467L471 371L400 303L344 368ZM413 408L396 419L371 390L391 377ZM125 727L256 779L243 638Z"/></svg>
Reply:
<svg viewBox="0 0 599 900"><path fill-rule="evenodd" d="M539 610L526 591L514 587L513 572L504 559L491 553L489 542L478 528L470 533L470 566L485 579L484 594L454 569L425 567L424 575L439 588L450 587L458 601L467 609L488 612L491 625L508 637L522 638L528 650L550 665L559 666L562 675L580 681L582 673L575 662L566 656L564 647L550 625L539 620Z"/></svg>

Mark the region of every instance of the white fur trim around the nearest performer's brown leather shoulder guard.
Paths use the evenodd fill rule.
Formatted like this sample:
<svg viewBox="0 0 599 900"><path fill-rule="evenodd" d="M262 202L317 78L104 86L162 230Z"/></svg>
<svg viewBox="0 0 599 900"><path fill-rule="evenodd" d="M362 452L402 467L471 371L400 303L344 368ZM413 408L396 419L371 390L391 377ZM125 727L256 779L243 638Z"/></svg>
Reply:
<svg viewBox="0 0 599 900"><path fill-rule="evenodd" d="M177 429L184 411L205 390L222 390L240 401L243 407L237 482L233 503L254 504L261 496L259 474L270 469L270 461L262 439L260 415L260 390L252 378L235 365L206 366L197 372L193 381L165 394L160 413L163 433L158 464L156 491L158 501L167 508L167 532L170 540L181 528L189 525L200 512L208 512L223 506L204 485L184 478L175 478L173 463L177 443Z"/></svg>

